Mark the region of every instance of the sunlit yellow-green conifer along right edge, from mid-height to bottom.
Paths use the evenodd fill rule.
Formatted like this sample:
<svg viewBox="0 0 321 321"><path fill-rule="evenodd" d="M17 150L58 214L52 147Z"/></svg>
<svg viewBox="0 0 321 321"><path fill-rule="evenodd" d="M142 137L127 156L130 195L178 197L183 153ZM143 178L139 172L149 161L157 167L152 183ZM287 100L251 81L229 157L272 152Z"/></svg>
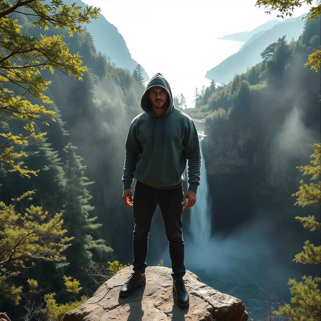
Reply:
<svg viewBox="0 0 321 321"><path fill-rule="evenodd" d="M321 164L321 144L308 145L314 148L314 153L311 157L311 163L314 166L298 166L297 168L303 172L303 175L312 174L313 180L320 179ZM299 191L292 196L298 196L297 202L294 205L300 205L302 207L306 205L319 205L321 202L321 192L320 192L320 180L317 184L310 183L307 185L300 181ZM318 208L318 206L317 206ZM310 229L310 231L320 230L321 224L315 220L314 215L309 215L307 217L296 216L295 219L303 223L303 227ZM304 251L295 255L292 261L299 262L302 264L313 264L321 266L321 247L314 246L307 240L303 246ZM296 282L295 279L289 279L288 284L291 285L291 303L284 304L279 307L278 311L273 311L275 315L283 315L288 317L290 320L302 320L302 321L316 321L321 318L321 296L320 296L320 277L303 276L303 282Z"/></svg>

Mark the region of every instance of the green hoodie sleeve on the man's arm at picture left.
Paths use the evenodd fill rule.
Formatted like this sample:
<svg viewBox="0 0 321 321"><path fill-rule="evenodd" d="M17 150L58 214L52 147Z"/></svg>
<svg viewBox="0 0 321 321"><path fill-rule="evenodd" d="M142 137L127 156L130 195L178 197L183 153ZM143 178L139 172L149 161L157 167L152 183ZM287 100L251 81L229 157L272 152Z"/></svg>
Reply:
<svg viewBox="0 0 321 321"><path fill-rule="evenodd" d="M129 126L125 149L124 175L122 178L124 189L131 188L132 186L134 180L133 172L136 169L136 164L141 153L140 144L136 137L136 129L133 122Z"/></svg>

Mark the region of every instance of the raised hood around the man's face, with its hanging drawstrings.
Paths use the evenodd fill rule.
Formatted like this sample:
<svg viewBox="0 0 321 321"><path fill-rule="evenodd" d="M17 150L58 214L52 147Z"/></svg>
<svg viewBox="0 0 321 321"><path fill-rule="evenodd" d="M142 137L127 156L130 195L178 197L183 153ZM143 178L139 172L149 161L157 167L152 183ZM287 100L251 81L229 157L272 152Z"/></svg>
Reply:
<svg viewBox="0 0 321 321"><path fill-rule="evenodd" d="M148 90L152 87L161 87L161 88L164 88L168 92L169 106L163 116L157 116L153 112L151 101L147 95ZM160 74L160 73L155 74L152 77L152 79L148 82L146 89L143 93L142 99L141 99L141 107L148 115L150 115L151 117L154 117L152 145L154 144L155 120L156 120L156 118L163 118L163 124L164 124L163 144L164 144L164 142L165 142L165 117L167 115L169 115L175 109L175 106L173 103L173 95L172 95L172 91L170 90L169 83L162 74Z"/></svg>

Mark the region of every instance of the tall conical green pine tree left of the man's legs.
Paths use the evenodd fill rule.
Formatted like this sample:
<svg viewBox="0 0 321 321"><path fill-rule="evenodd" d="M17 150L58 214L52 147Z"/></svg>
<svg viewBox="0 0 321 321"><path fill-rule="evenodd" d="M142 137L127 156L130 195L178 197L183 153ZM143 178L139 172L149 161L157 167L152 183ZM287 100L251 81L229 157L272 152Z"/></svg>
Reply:
<svg viewBox="0 0 321 321"><path fill-rule="evenodd" d="M76 155L76 149L71 143L64 148L66 184L63 219L65 228L74 240L66 251L67 263L59 267L64 268L66 275L77 276L83 284L88 285L88 276L81 267L106 261L112 249L105 245L103 239L94 238L96 230L102 225L94 223L97 217L89 218L89 212L94 207L88 204L92 196L86 186L94 182L85 182L88 179L83 176L86 166L81 164L82 158Z"/></svg>

